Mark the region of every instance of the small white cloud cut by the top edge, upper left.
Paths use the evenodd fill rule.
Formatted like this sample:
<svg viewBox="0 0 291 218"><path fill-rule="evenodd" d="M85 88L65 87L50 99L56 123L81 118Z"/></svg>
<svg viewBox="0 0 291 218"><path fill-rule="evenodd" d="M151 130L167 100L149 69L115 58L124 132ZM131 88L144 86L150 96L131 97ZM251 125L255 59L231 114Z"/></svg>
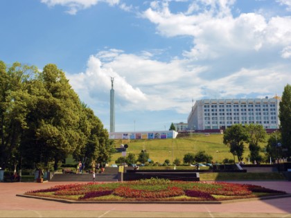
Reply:
<svg viewBox="0 0 291 218"><path fill-rule="evenodd" d="M108 3L110 6L117 5L120 0L41 0L42 3L46 3L48 6L65 6L68 7L69 10L66 12L70 15L76 15L78 10L90 8L91 6L95 6L98 2Z"/></svg>

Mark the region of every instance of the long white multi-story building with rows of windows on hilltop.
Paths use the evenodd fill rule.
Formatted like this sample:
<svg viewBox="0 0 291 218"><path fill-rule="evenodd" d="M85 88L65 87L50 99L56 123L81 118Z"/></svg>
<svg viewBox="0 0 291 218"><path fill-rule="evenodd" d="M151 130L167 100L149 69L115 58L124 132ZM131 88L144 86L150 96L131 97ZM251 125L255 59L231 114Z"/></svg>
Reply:
<svg viewBox="0 0 291 218"><path fill-rule="evenodd" d="M279 127L281 98L197 100L188 116L188 128L225 129L233 124L260 124L265 129Z"/></svg>

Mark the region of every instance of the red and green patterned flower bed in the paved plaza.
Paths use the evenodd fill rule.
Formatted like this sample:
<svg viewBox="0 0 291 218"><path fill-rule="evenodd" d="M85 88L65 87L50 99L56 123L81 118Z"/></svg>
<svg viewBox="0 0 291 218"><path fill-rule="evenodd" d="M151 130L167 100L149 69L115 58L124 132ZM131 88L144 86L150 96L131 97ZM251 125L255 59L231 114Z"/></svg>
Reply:
<svg viewBox="0 0 291 218"><path fill-rule="evenodd" d="M57 185L25 194L78 201L224 201L286 193L258 185L146 179L123 183Z"/></svg>

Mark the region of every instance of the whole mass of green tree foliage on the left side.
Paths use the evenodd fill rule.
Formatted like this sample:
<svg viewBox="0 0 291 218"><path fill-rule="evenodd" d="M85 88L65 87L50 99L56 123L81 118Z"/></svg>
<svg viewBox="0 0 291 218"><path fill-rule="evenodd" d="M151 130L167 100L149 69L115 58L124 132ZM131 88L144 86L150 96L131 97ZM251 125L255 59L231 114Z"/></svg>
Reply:
<svg viewBox="0 0 291 218"><path fill-rule="evenodd" d="M0 165L55 167L69 154L76 161L107 162L113 147L94 112L82 103L55 64L43 71L0 62Z"/></svg>

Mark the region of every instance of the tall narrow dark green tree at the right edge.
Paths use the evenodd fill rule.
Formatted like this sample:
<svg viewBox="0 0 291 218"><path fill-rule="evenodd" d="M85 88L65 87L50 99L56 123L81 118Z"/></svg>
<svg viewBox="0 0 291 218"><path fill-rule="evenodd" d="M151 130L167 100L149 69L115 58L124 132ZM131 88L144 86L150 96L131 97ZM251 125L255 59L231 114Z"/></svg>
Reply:
<svg viewBox="0 0 291 218"><path fill-rule="evenodd" d="M286 156L291 156L291 85L284 87L282 100L279 103L280 130L282 136L282 149L288 149Z"/></svg>

